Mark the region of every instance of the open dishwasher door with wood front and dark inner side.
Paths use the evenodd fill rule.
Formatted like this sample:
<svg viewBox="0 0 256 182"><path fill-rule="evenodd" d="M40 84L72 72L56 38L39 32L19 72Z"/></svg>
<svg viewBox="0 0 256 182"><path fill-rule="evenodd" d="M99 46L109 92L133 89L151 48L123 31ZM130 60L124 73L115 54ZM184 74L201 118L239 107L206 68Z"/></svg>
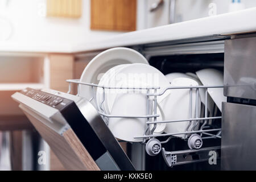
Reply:
<svg viewBox="0 0 256 182"><path fill-rule="evenodd" d="M68 170L134 170L97 110L79 96L44 89L13 94Z"/></svg>

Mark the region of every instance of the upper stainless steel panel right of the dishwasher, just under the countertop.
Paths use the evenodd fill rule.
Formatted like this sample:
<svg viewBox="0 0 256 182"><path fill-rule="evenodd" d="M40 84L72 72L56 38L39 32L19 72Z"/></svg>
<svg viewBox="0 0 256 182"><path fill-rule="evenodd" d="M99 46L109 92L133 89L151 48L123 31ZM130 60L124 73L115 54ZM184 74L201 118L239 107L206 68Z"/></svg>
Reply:
<svg viewBox="0 0 256 182"><path fill-rule="evenodd" d="M256 37L225 40L224 95L256 100Z"/></svg>

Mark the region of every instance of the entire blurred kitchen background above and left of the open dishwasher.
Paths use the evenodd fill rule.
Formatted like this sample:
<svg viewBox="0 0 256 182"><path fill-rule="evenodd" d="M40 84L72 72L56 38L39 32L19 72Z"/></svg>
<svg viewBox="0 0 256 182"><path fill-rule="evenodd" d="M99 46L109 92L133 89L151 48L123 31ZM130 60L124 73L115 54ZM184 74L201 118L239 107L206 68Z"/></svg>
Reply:
<svg viewBox="0 0 256 182"><path fill-rule="evenodd" d="M255 0L0 0L0 170L63 169L10 96L28 86L67 92L65 80L79 78L94 56L67 55L72 46L255 6ZM51 153L43 167L34 162L40 148Z"/></svg>

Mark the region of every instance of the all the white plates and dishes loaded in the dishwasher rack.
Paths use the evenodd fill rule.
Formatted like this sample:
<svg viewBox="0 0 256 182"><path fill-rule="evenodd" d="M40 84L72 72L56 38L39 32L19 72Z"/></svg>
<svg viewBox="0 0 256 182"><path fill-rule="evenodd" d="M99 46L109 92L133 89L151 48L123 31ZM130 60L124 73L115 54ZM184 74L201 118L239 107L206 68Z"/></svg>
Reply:
<svg viewBox="0 0 256 182"><path fill-rule="evenodd" d="M201 76L205 75L205 72L212 73L212 78L216 76L214 75L216 71L212 70L199 71L197 75L193 73L170 73L164 76L158 69L148 65L147 60L137 51L129 48L112 48L94 57L87 65L80 81L98 84L99 87L92 90L90 86L80 85L80 96L88 100L93 96L92 104L100 113L127 116L126 118L104 117L104 119L108 121L109 129L115 137L129 142L141 142L142 139L134 139L134 137L144 135L147 119L132 116L153 114L154 97L151 96L148 101L146 89L127 88L159 87L159 89L150 90L151 93L159 94L168 86L206 85L209 82L205 80L204 76ZM221 78L217 80L221 80ZM215 81L214 84L221 83ZM220 91L218 90L218 92ZM195 89L193 89L192 94L192 97L196 98ZM189 113L189 89L167 90L167 92L157 97L156 113L160 115L157 121L200 117L201 102L205 104L203 89L200 89L199 94L199 108L196 109L196 100L193 99L192 113ZM216 96L216 92L213 92L210 96L208 96L207 108L212 111L214 97L218 96ZM220 100L223 99L218 99L218 102ZM147 110L147 104L150 105L150 111ZM196 113L196 110L198 113ZM150 118L150 121L154 121L154 118ZM154 134L163 132L182 133L187 130L188 123L188 121L159 123L156 125ZM198 129L194 126L195 122L192 122L188 130ZM152 127L154 125L150 125L150 129ZM176 135L176 137L184 137L184 134Z"/></svg>

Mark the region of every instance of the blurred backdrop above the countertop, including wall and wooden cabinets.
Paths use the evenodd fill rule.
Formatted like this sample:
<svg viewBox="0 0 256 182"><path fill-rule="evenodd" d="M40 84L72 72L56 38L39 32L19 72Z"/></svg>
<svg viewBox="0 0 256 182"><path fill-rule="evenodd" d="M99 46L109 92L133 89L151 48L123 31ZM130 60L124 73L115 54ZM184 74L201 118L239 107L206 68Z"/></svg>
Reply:
<svg viewBox="0 0 256 182"><path fill-rule="evenodd" d="M241 3L245 9L256 6L253 0ZM0 40L22 45L88 42L120 31L228 13L231 4L232 0L0 0Z"/></svg>

